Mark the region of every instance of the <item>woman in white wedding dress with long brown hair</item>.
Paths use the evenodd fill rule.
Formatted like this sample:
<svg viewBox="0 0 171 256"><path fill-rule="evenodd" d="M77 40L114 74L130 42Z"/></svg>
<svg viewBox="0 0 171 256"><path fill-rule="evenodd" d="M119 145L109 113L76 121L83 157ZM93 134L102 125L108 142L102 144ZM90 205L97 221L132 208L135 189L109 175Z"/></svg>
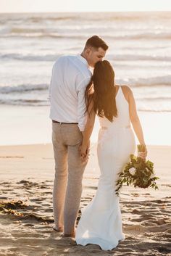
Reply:
<svg viewBox="0 0 171 256"><path fill-rule="evenodd" d="M86 88L88 120L80 154L85 160L97 114L101 125L97 148L101 176L96 196L83 210L75 240L77 244L99 244L101 249L113 249L125 239L115 183L130 154L135 152L130 123L139 143L145 142L133 92L128 86L114 85L114 70L107 60L96 64L92 82ZM141 157L145 158L146 152Z"/></svg>

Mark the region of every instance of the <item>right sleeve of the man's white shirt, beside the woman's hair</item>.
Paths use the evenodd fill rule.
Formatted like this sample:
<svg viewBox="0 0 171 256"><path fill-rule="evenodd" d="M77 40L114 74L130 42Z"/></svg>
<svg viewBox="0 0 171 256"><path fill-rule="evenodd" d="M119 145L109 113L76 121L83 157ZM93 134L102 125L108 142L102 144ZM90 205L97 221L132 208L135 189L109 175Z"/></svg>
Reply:
<svg viewBox="0 0 171 256"><path fill-rule="evenodd" d="M90 83L91 77L83 79L78 85L78 127L80 131L85 130L87 114L86 114L86 102L85 91L86 86Z"/></svg>

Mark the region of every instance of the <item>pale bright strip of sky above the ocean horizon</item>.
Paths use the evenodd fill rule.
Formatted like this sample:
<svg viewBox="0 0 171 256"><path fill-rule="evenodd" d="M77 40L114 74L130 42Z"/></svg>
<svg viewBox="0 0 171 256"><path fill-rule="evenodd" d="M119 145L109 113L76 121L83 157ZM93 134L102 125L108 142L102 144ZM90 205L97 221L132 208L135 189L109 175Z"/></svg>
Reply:
<svg viewBox="0 0 171 256"><path fill-rule="evenodd" d="M171 11L171 0L0 0L0 12Z"/></svg>

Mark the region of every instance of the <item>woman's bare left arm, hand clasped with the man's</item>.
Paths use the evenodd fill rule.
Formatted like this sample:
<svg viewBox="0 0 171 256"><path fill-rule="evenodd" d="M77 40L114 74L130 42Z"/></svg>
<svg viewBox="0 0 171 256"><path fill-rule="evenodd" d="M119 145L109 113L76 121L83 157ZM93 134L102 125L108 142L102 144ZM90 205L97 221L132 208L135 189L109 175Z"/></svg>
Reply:
<svg viewBox="0 0 171 256"><path fill-rule="evenodd" d="M91 112L91 113L90 115L88 115L86 128L85 128L85 131L83 131L83 142L82 142L82 145L80 146L80 156L83 159L87 157L87 154L89 151L90 137L93 131L93 125L96 117L96 113L93 111L93 100L91 100L91 104L88 107L88 112Z"/></svg>

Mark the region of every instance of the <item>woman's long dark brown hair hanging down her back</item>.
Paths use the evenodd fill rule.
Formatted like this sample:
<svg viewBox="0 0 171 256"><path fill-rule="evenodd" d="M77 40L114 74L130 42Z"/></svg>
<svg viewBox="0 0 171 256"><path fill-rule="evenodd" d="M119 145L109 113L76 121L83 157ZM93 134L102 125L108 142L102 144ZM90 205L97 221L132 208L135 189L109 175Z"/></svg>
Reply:
<svg viewBox="0 0 171 256"><path fill-rule="evenodd" d="M88 83L85 92L86 112L96 112L99 117L107 117L112 122L117 117L116 87L114 86L114 70L107 60L97 62L91 82ZM89 110L91 101L93 108Z"/></svg>

